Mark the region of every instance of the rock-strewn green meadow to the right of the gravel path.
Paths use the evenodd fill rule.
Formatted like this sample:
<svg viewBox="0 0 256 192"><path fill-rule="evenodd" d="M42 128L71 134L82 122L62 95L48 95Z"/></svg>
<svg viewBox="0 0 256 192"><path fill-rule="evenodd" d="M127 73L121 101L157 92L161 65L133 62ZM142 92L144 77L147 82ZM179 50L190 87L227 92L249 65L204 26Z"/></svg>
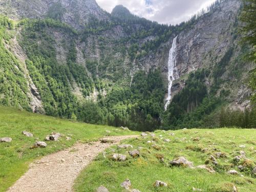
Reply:
<svg viewBox="0 0 256 192"><path fill-rule="evenodd" d="M106 151L106 158L99 155L76 180L75 191L95 191L100 185L104 185L111 192L125 191L120 184L127 178L131 180L131 188L141 192L184 192L193 191L193 187L201 189L197 191L233 192L233 186L236 186L238 191L254 191L256 179L252 169L256 162L255 130L193 129L156 131L155 134L155 137L148 135L145 138L124 141L125 144L132 144L133 150L143 147L139 149L139 158L132 158L127 153L131 149L120 149L117 146ZM165 139L170 142L164 141ZM153 143L147 143L151 140ZM113 149L114 153L126 155L127 160L112 160ZM240 155L241 151L245 152L246 158L242 158L240 162L234 161L234 157ZM221 157L218 158L216 153L220 153ZM208 160L210 155L216 158L217 165ZM170 160L181 156L193 162L194 167L204 165L208 161L207 166L214 168L216 173L209 173L200 168L169 166ZM239 165L244 167L243 171L239 170ZM238 175L227 173L232 169L237 170ZM156 180L163 181L168 186L155 187Z"/></svg>

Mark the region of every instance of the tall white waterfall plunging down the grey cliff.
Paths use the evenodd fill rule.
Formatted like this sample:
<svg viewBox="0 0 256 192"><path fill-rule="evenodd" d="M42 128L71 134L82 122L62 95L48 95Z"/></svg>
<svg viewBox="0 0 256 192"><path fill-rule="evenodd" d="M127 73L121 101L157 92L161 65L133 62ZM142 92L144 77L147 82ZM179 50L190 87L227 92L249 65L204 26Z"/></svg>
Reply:
<svg viewBox="0 0 256 192"><path fill-rule="evenodd" d="M178 37L178 36L177 36ZM166 99L166 103L164 106L164 110L166 111L167 106L170 104L173 81L179 78L179 74L176 68L176 49L177 49L177 37L174 38L172 48L169 51L169 59L168 59L168 97Z"/></svg>

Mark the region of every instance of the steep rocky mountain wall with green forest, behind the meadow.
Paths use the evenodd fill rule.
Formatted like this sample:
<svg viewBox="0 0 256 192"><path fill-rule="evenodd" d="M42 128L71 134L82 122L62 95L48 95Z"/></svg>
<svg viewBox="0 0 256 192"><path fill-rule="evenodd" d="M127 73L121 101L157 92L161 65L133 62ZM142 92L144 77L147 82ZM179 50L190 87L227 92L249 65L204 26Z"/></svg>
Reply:
<svg viewBox="0 0 256 192"><path fill-rule="evenodd" d="M1 13L12 19L29 18L3 29L9 36L4 37L5 49L23 66L18 69L28 84L23 91L26 108L140 130L187 126L187 114L197 121L191 125L216 126L216 117L209 115L219 106L249 106L251 92L245 80L255 63L243 60L249 47L239 45L240 7L239 0L224 0L189 22L165 26L122 6L106 13L94 0L0 4ZM173 101L164 112L170 60L176 77L169 89ZM2 104L25 108L22 97L4 102L4 95ZM205 124L201 116L195 120L191 113L197 110L214 121Z"/></svg>

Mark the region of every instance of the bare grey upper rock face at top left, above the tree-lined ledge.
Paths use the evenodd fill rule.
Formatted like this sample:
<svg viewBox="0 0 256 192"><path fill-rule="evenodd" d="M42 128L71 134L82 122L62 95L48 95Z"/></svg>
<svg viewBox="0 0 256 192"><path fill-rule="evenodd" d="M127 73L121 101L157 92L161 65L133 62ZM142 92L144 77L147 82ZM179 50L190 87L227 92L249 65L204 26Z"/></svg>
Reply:
<svg viewBox="0 0 256 192"><path fill-rule="evenodd" d="M0 7L2 13L13 19L52 17L76 29L83 28L92 17L109 19L95 0L4 0Z"/></svg>

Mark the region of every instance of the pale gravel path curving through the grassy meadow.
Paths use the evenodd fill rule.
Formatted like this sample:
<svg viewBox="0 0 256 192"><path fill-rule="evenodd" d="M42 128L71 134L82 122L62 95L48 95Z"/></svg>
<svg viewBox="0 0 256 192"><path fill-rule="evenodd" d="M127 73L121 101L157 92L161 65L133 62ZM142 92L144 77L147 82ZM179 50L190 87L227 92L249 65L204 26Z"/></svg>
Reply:
<svg viewBox="0 0 256 192"><path fill-rule="evenodd" d="M78 143L73 147L43 157L30 164L28 172L22 176L8 191L19 192L62 192L73 191L73 183L81 170L100 152L123 139L136 136L108 137L114 143L90 144Z"/></svg>

